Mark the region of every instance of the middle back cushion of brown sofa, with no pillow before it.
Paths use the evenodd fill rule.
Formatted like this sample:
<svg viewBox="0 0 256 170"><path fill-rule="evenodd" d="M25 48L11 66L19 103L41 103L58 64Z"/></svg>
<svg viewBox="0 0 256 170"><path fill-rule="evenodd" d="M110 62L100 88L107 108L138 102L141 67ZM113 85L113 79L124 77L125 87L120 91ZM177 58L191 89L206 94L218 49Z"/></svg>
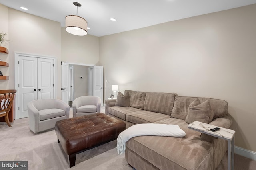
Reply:
<svg viewBox="0 0 256 170"><path fill-rule="evenodd" d="M171 115L176 94L147 92L144 110Z"/></svg>

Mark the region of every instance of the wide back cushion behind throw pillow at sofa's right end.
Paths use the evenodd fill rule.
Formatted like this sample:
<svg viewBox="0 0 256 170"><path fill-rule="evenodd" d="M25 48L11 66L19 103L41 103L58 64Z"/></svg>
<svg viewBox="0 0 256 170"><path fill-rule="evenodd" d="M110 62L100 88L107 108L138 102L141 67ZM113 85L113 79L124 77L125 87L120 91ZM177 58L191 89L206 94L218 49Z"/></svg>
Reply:
<svg viewBox="0 0 256 170"><path fill-rule="evenodd" d="M185 120L188 114L188 106L196 98L197 97L176 96L171 117ZM214 113L213 119L216 119L218 117L223 117L228 114L228 102L226 102L225 100L212 99L212 98L198 98L198 100L200 103L205 102L206 100L209 100L210 106Z"/></svg>

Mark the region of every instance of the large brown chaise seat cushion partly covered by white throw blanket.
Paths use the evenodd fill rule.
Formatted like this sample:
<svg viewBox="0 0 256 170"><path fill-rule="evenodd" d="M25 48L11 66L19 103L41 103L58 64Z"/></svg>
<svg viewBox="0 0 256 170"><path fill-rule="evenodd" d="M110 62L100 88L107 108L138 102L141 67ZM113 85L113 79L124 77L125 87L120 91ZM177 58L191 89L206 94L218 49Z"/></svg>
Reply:
<svg viewBox="0 0 256 170"><path fill-rule="evenodd" d="M188 124L180 119L169 118L156 123L177 123L186 132L186 136L134 137L126 142L126 149L132 150L159 169L212 169L212 144L200 140L199 132L188 129Z"/></svg>

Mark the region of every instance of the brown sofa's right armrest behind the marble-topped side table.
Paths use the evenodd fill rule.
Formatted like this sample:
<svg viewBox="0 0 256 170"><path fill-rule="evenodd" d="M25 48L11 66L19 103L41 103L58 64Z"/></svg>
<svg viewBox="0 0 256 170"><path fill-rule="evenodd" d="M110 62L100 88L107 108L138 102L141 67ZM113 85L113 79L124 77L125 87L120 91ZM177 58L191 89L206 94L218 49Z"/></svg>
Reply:
<svg viewBox="0 0 256 170"><path fill-rule="evenodd" d="M214 119L212 122L210 122L210 125L214 125L214 126L218 126L218 127L224 127L226 129L229 129L230 126L232 125L232 119L230 115L226 115L224 117L219 117ZM204 133L201 133L200 135L200 139L204 140L204 141L208 141L208 142L212 142L214 139L216 139L217 137L213 137L210 135L206 135Z"/></svg>

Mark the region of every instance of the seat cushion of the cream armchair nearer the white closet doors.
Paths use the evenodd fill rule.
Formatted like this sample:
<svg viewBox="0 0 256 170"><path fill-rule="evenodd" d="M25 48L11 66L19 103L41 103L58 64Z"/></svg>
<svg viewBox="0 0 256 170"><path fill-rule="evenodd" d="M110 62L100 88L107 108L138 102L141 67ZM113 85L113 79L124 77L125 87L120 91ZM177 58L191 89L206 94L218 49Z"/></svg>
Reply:
<svg viewBox="0 0 256 170"><path fill-rule="evenodd" d="M62 109L43 109L39 111L40 121L65 116L65 110Z"/></svg>

